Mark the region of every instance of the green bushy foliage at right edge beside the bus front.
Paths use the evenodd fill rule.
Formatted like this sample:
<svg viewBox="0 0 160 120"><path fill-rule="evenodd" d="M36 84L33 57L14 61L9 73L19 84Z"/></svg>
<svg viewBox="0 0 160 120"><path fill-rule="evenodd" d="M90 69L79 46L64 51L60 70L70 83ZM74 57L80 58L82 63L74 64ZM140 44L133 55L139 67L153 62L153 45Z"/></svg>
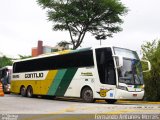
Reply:
<svg viewBox="0 0 160 120"><path fill-rule="evenodd" d="M143 59L151 62L152 69L144 74L145 98L160 101L160 40L146 42L141 47Z"/></svg>

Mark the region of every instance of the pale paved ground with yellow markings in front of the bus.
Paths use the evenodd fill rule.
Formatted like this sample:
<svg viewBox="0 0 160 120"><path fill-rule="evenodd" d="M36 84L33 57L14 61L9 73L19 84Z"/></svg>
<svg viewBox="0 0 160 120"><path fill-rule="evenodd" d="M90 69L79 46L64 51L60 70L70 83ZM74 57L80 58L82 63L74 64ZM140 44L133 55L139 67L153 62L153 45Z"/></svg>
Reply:
<svg viewBox="0 0 160 120"><path fill-rule="evenodd" d="M56 119L61 120L60 116L63 115L65 116L65 120L70 120L77 115L83 114L84 116L85 114L84 117L87 119L94 117L94 119L98 120L99 115L151 114L154 116L149 117L160 119L160 102L119 101L116 104L107 104L104 101L96 101L96 103L83 103L79 99L71 98L57 98L52 100L44 98L26 98L20 95L5 95L4 97L0 97L0 104L0 114L2 114L3 116L1 117L4 118L5 115L21 114L20 116L22 116L22 114L27 114L23 115L22 118L38 120L40 118L46 119L46 117L49 118L52 117L52 115L56 115L58 116ZM29 114L31 114L31 117L29 117ZM74 115L76 116L73 117Z"/></svg>

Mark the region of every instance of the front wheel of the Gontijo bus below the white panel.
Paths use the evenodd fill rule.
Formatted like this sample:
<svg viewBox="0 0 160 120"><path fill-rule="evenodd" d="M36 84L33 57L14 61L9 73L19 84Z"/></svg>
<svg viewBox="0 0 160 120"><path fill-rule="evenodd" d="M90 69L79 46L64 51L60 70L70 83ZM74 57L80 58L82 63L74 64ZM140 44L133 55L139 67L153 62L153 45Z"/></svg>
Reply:
<svg viewBox="0 0 160 120"><path fill-rule="evenodd" d="M87 103L95 102L93 99L93 91L89 87L86 87L82 90L82 99Z"/></svg>

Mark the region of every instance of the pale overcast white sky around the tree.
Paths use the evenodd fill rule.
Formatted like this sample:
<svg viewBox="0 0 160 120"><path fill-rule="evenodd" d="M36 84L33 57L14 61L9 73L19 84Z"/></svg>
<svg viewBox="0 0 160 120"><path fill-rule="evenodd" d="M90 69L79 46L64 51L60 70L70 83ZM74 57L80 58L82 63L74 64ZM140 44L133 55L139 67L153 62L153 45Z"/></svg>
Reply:
<svg viewBox="0 0 160 120"><path fill-rule="evenodd" d="M160 0L121 0L129 12L123 16L122 32L102 41L102 45L133 49L140 53L146 41L160 39ZM31 55L32 47L42 40L44 45L55 46L70 40L68 32L53 31L52 22L36 0L1 0L0 54L9 57ZM94 36L87 34L82 47L100 46Z"/></svg>

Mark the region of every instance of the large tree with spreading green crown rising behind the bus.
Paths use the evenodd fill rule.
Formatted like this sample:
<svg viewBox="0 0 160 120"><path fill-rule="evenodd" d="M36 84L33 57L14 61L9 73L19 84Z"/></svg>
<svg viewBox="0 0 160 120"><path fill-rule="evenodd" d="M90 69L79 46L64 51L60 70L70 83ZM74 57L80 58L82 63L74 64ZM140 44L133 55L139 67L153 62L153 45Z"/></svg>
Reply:
<svg viewBox="0 0 160 120"><path fill-rule="evenodd" d="M73 49L78 48L86 33L97 40L112 37L121 31L120 16L128 10L120 0L37 0L48 9L48 20L53 21L53 30L68 30Z"/></svg>

